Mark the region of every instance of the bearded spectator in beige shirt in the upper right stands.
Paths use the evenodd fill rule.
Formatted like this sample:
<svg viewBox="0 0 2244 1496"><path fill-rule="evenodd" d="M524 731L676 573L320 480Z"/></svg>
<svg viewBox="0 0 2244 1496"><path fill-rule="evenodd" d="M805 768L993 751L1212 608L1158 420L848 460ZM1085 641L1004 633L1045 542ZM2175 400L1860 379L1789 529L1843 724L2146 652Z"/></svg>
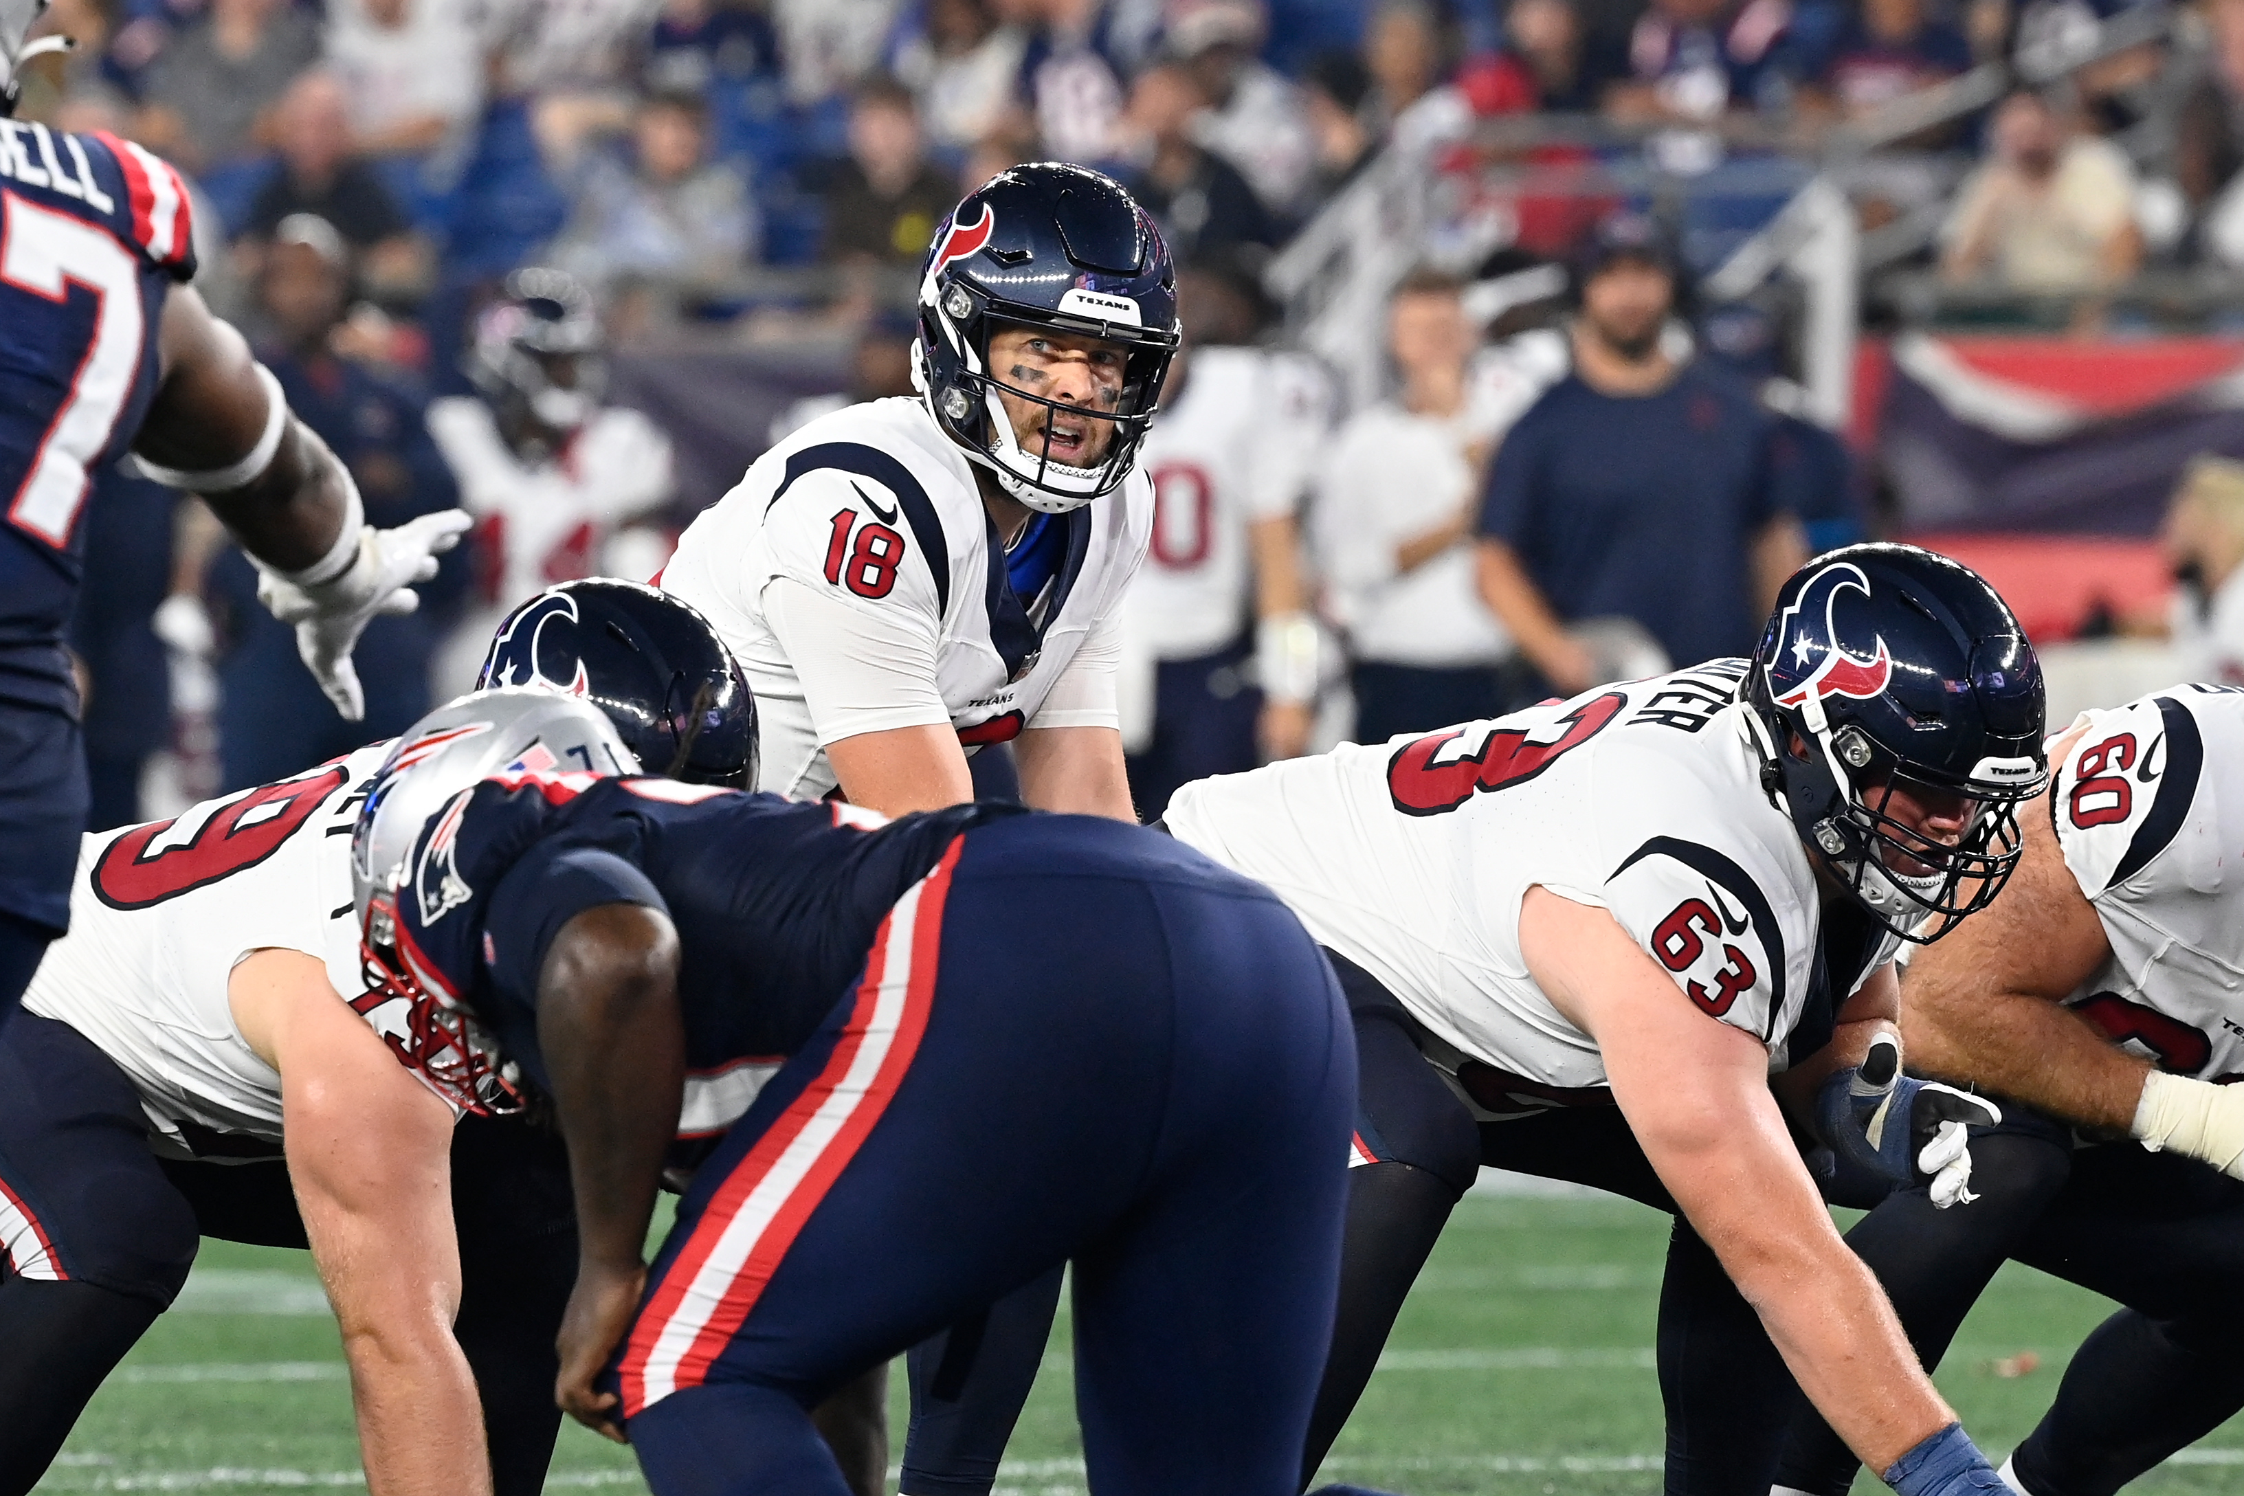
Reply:
<svg viewBox="0 0 2244 1496"><path fill-rule="evenodd" d="M2087 292L2143 262L2134 166L2107 139L2069 126L2040 94L2002 101L1988 159L1941 231L1941 274L2022 292Z"/></svg>

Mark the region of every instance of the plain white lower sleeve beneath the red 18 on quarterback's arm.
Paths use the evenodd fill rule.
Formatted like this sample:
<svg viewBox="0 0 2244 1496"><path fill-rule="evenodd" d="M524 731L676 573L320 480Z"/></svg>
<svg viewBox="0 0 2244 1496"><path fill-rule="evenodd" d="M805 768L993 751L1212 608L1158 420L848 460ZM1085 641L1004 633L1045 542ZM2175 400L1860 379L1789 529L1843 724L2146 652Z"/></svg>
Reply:
<svg viewBox="0 0 2244 1496"><path fill-rule="evenodd" d="M846 603L833 588L776 576L763 588L763 619L788 653L794 677L803 682L819 747L859 733L942 727L951 720L936 689L931 617L907 608ZM1088 644L1086 639L1084 646Z"/></svg>

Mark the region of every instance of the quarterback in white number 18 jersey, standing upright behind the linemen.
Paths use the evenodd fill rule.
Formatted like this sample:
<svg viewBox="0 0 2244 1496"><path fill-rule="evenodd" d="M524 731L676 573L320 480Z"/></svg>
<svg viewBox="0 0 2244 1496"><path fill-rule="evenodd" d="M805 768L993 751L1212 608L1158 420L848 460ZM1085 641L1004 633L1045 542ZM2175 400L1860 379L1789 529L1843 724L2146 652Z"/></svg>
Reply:
<svg viewBox="0 0 2244 1496"><path fill-rule="evenodd" d="M763 789L889 816L958 805L967 754L1010 742L1028 805L1135 821L1120 610L1153 520L1138 453L1180 339L1169 251L1109 177L1017 166L936 229L918 305L918 399L779 442L660 583L747 673ZM994 1474L1057 1301L1055 1272L913 1355L907 1492L960 1460ZM996 1391L967 1386L976 1368ZM862 1424L853 1478L877 1489L880 1379L844 1402ZM969 1402L1001 1426L960 1424Z"/></svg>

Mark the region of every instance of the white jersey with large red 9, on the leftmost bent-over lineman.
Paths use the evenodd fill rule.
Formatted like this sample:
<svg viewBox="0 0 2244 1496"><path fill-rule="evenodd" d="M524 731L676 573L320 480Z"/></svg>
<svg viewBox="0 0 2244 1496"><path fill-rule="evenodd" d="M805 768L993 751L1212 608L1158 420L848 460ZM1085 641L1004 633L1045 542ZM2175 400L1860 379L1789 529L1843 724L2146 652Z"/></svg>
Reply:
<svg viewBox="0 0 2244 1496"><path fill-rule="evenodd" d="M280 1074L233 1027L227 980L251 951L303 951L357 1000L350 828L388 742L204 801L173 821L83 839L70 933L22 996L79 1029L141 1095L157 1153L195 1157L209 1133L280 1142ZM404 1003L366 1012L404 1036ZM227 1151L227 1148L220 1148Z"/></svg>

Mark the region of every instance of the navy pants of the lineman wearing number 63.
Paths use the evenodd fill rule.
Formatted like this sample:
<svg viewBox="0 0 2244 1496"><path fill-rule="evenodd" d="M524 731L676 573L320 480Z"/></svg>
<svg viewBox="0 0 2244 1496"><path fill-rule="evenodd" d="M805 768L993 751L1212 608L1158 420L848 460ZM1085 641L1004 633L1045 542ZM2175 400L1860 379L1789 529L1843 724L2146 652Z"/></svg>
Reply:
<svg viewBox="0 0 2244 1496"><path fill-rule="evenodd" d="M1331 953L1328 953L1331 955ZM1396 1312L1479 1169L1573 1180L1670 1211L1658 1373L1670 1496L1768 1496L1791 1373L1753 1305L1692 1231L1616 1106L1477 1121L1423 1059L1418 1025L1360 967L1333 955L1355 1023L1360 1101L1333 1355L1302 1462L1308 1485L1378 1364Z"/></svg>

